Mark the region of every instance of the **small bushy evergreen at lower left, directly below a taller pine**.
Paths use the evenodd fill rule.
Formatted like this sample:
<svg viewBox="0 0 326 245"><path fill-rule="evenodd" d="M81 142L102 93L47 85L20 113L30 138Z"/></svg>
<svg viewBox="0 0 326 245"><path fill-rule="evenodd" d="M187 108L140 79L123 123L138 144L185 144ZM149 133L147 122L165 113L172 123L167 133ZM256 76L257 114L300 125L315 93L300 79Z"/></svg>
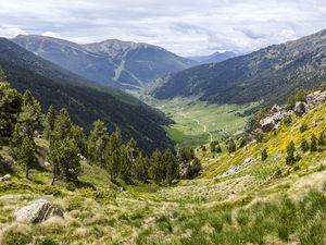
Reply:
<svg viewBox="0 0 326 245"><path fill-rule="evenodd" d="M18 163L22 164L26 172L26 179L29 177L29 170L35 167L36 157L34 143L25 136L18 150Z"/></svg>

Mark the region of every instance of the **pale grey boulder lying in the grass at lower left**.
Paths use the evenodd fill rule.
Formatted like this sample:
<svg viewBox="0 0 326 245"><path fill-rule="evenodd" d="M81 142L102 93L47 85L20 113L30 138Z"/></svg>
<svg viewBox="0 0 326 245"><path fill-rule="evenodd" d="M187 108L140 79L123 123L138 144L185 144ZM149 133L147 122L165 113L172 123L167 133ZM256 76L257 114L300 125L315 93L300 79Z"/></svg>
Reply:
<svg viewBox="0 0 326 245"><path fill-rule="evenodd" d="M63 211L54 208L46 199L38 199L35 203L21 208L15 212L17 221L27 223L39 223L50 217L58 216L63 218Z"/></svg>

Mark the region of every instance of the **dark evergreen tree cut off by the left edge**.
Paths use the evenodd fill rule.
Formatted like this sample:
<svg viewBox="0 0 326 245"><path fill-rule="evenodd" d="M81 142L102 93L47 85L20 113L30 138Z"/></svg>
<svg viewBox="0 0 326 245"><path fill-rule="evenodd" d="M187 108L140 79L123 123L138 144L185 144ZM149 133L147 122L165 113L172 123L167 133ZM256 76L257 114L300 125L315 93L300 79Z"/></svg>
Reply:
<svg viewBox="0 0 326 245"><path fill-rule="evenodd" d="M10 87L0 70L0 143L13 133L21 109L22 96Z"/></svg>

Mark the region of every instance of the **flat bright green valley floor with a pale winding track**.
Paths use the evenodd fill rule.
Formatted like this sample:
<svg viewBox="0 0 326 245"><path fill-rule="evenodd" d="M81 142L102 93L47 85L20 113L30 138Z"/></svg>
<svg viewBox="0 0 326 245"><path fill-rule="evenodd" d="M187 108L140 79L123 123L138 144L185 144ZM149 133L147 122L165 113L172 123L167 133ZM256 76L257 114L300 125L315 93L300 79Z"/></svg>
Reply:
<svg viewBox="0 0 326 245"><path fill-rule="evenodd" d="M199 101L196 97L177 97L170 100L142 98L150 106L165 112L175 124L166 126L172 139L180 147L196 147L210 142L210 135L203 132L203 125L213 135L213 140L225 134L240 133L244 126L246 117L240 117L258 103L237 105L209 105ZM237 114L238 113L238 114ZM196 120L199 120L201 125Z"/></svg>

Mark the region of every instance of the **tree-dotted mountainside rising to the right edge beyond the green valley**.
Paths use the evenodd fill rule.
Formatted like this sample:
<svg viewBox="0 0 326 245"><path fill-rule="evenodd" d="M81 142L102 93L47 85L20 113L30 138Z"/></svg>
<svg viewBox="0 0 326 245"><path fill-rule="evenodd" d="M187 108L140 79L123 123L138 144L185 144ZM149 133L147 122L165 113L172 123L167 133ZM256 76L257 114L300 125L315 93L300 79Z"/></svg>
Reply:
<svg viewBox="0 0 326 245"><path fill-rule="evenodd" d="M200 96L215 103L284 102L299 88L326 81L326 29L221 63L161 78L150 94L164 99Z"/></svg>

